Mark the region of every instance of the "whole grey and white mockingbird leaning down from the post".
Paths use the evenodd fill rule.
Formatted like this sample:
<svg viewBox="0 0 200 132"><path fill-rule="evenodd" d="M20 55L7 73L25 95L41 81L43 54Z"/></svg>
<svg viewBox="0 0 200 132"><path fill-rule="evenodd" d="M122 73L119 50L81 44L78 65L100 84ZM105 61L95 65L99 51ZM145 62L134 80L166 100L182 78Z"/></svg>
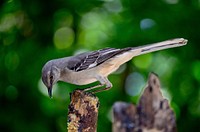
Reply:
<svg viewBox="0 0 200 132"><path fill-rule="evenodd" d="M186 43L186 39L177 38L139 47L105 48L76 56L50 60L42 69L42 81L48 88L50 97L52 97L52 86L57 81L76 85L99 81L99 85L84 90L87 91L102 86L105 86L105 88L95 92L108 90L112 87L112 83L108 80L108 75L133 57L162 49L183 46Z"/></svg>

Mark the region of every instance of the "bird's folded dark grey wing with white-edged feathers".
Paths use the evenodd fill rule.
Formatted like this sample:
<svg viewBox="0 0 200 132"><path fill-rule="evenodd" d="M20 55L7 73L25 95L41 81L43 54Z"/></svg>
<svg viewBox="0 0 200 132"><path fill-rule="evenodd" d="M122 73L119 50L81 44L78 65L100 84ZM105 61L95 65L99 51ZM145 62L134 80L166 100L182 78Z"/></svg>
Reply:
<svg viewBox="0 0 200 132"><path fill-rule="evenodd" d="M69 59L67 67L75 72L87 70L96 67L105 62L106 60L116 55L122 54L126 51L129 51L131 49L132 48L124 48L124 49L105 48L93 52L79 54Z"/></svg>

